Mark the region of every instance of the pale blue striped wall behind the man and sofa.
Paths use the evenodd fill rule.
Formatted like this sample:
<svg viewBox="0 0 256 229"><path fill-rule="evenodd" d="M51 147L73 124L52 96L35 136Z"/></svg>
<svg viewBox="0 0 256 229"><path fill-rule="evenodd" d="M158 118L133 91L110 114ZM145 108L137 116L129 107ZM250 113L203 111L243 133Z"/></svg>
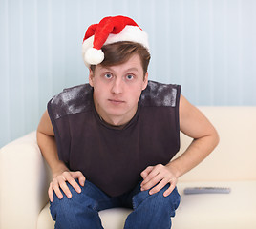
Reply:
<svg viewBox="0 0 256 229"><path fill-rule="evenodd" d="M107 15L150 37L150 78L195 105L256 105L254 0L0 0L0 147L35 130L53 94L87 82L86 28Z"/></svg>

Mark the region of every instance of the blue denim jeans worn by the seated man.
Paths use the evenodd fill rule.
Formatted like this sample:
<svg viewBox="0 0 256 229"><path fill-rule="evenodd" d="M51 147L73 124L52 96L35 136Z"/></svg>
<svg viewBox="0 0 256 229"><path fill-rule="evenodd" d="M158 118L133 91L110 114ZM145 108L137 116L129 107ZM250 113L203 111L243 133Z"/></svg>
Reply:
<svg viewBox="0 0 256 229"><path fill-rule="evenodd" d="M169 184L159 193L149 195L148 191L140 191L139 183L132 192L117 198L107 196L88 180L81 187L80 194L70 184L67 185L72 198L63 195L62 199L58 199L54 194L50 206L56 229L103 228L98 211L116 207L134 209L126 219L125 229L169 229L171 217L175 216L181 200L176 188L168 197L163 197Z"/></svg>

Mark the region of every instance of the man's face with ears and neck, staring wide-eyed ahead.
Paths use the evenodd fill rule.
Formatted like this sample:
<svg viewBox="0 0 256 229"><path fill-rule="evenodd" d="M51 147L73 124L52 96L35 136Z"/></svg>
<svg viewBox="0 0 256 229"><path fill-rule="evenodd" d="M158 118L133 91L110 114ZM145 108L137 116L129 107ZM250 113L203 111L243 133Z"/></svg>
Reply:
<svg viewBox="0 0 256 229"><path fill-rule="evenodd" d="M140 58L134 54L124 64L90 70L97 113L109 124L123 125L136 114L141 91L147 86Z"/></svg>

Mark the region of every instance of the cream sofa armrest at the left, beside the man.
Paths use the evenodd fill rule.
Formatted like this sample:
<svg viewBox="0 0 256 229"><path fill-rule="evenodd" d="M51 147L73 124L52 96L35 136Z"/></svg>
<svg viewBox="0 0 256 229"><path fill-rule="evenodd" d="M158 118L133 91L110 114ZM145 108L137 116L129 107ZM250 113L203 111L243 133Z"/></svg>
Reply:
<svg viewBox="0 0 256 229"><path fill-rule="evenodd" d="M0 228L36 228L48 201L50 174L35 132L0 150Z"/></svg>

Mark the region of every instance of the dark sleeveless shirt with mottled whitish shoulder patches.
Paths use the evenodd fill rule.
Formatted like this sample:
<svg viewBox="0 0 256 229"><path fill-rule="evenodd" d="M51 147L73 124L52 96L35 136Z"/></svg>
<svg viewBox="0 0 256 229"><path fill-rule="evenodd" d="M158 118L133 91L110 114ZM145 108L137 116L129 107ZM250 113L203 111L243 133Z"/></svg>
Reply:
<svg viewBox="0 0 256 229"><path fill-rule="evenodd" d="M138 111L121 130L96 113L89 84L65 89L48 103L57 152L111 197L131 191L147 166L167 164L180 149L181 86L149 81Z"/></svg>

